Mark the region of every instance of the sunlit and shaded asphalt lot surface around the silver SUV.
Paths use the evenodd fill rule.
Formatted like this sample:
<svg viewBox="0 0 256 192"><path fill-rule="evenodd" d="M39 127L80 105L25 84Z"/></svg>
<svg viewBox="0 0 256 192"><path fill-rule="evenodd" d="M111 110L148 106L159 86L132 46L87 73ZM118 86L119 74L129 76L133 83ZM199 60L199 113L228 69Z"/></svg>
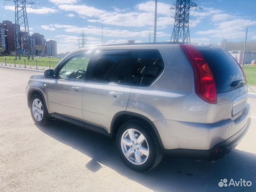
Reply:
<svg viewBox="0 0 256 192"><path fill-rule="evenodd" d="M25 87L36 72L0 68L0 191L256 191L256 99L251 127L230 154L216 162L165 157L138 173L119 158L114 140L55 122L36 126ZM240 178L251 187L218 187Z"/></svg>

